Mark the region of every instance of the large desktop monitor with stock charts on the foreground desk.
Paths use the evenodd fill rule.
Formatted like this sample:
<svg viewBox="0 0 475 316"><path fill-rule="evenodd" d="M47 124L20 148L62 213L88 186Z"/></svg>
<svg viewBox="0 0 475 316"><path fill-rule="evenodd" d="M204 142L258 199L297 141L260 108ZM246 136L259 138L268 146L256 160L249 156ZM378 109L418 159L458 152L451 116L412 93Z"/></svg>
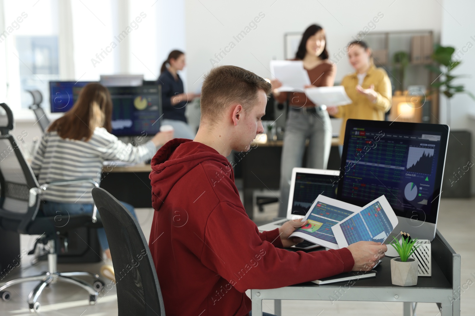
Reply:
<svg viewBox="0 0 475 316"><path fill-rule="evenodd" d="M363 206L384 194L399 220L392 235L433 240L447 139L446 125L349 119L338 199Z"/></svg>

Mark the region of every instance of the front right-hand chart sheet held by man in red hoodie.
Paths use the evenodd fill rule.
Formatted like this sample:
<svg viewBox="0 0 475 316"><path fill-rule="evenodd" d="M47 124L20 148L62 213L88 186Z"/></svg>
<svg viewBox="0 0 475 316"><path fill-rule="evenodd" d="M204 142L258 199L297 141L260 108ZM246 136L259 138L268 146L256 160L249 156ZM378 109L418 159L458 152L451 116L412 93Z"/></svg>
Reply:
<svg viewBox="0 0 475 316"><path fill-rule="evenodd" d="M361 240L384 243L396 225L398 218L386 197L381 195L332 226L332 230L338 245L343 248Z"/></svg>

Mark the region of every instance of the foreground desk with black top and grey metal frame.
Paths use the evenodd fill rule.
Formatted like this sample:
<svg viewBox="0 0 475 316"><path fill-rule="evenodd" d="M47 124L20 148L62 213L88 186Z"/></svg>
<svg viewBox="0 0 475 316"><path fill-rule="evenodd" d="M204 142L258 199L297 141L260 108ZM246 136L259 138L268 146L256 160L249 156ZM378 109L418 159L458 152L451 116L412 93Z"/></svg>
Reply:
<svg viewBox="0 0 475 316"><path fill-rule="evenodd" d="M312 282L297 284L280 289L252 289L252 314L262 315L262 300L275 299L276 315L281 314L281 299L332 300L334 291L341 293L342 301L383 301L403 302L404 316L410 316L410 302L434 302L441 309L441 316L460 315L460 254L455 253L437 230L431 242L432 276L418 277L418 284L400 287L391 284L390 259L375 269L376 278L356 280L353 286L348 281L329 285ZM346 288L345 288L346 285Z"/></svg>

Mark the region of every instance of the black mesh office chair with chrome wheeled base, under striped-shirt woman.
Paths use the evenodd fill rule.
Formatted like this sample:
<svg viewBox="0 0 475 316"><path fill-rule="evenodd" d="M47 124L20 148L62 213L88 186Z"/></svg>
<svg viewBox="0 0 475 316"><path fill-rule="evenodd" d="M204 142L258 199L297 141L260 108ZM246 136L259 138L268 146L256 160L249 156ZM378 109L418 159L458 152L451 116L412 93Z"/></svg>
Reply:
<svg viewBox="0 0 475 316"><path fill-rule="evenodd" d="M41 192L48 185L67 185L72 183L98 184L91 179L51 182L38 185L33 171L26 162L10 130L13 128L13 114L5 104L0 104L0 227L19 234L41 235L42 242L48 246L48 271L39 275L20 277L0 284L0 297L8 301L8 287L21 282L40 281L28 296L28 306L32 311L40 308L37 302L42 290L57 281L67 282L85 289L89 293L89 302L95 304L98 291L104 286L104 281L97 274L89 272L58 272L57 271L57 235L65 234L71 228L80 226L102 227L102 223L90 215L39 217L38 209ZM66 225L63 225L66 223ZM5 242L5 241L0 241ZM78 279L78 276L93 278L93 285Z"/></svg>

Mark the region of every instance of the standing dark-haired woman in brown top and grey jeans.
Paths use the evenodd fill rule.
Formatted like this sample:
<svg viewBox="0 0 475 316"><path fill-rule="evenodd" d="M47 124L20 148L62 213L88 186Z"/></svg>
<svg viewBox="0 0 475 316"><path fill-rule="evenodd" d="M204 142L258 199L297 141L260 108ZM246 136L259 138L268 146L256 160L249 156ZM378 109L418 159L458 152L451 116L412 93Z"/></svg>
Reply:
<svg viewBox="0 0 475 316"><path fill-rule="evenodd" d="M307 27L294 60L304 62L304 68L312 83L308 87L333 86L336 66L328 57L325 30L318 25ZM278 88L281 84L275 80L272 86ZM303 91L279 93L274 90L273 93L279 102L287 100L289 104L280 167L282 203L279 206L279 217L286 217L292 169L302 167L305 141L308 139L310 142L306 167L326 169L332 145L332 125L326 107L312 103Z"/></svg>

